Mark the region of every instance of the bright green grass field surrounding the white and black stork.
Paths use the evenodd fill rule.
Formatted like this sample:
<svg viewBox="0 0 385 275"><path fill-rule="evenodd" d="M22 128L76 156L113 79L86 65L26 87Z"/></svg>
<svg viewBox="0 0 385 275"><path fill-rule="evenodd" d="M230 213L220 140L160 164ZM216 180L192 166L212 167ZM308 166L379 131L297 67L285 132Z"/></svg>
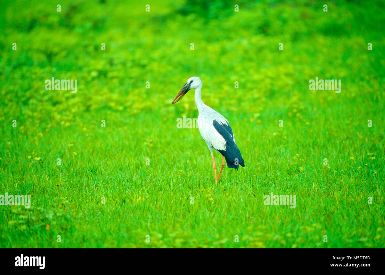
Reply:
<svg viewBox="0 0 385 275"><path fill-rule="evenodd" d="M0 247L385 247L382 1L2 5L0 195L31 207L0 205ZM198 117L193 90L171 105L192 76L245 160L218 185L176 127Z"/></svg>

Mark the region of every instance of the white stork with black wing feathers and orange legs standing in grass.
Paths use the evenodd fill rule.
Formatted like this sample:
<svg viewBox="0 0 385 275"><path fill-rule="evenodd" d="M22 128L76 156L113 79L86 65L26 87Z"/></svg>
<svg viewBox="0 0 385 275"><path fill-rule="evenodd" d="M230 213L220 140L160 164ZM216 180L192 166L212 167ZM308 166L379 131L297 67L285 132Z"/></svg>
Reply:
<svg viewBox="0 0 385 275"><path fill-rule="evenodd" d="M202 81L199 77L189 78L172 101L172 104L181 100L182 97L184 97L184 95L186 95L186 93L191 89L195 89L195 104L199 112L199 132L210 149L211 158L213 159L215 183L218 183L224 167L225 159L227 167L235 168L237 170L239 165L244 167L244 160L238 146L235 144L233 130L231 130L227 119L203 103L201 99ZM218 177L216 175L216 163L213 155L213 149L222 154L222 165Z"/></svg>

